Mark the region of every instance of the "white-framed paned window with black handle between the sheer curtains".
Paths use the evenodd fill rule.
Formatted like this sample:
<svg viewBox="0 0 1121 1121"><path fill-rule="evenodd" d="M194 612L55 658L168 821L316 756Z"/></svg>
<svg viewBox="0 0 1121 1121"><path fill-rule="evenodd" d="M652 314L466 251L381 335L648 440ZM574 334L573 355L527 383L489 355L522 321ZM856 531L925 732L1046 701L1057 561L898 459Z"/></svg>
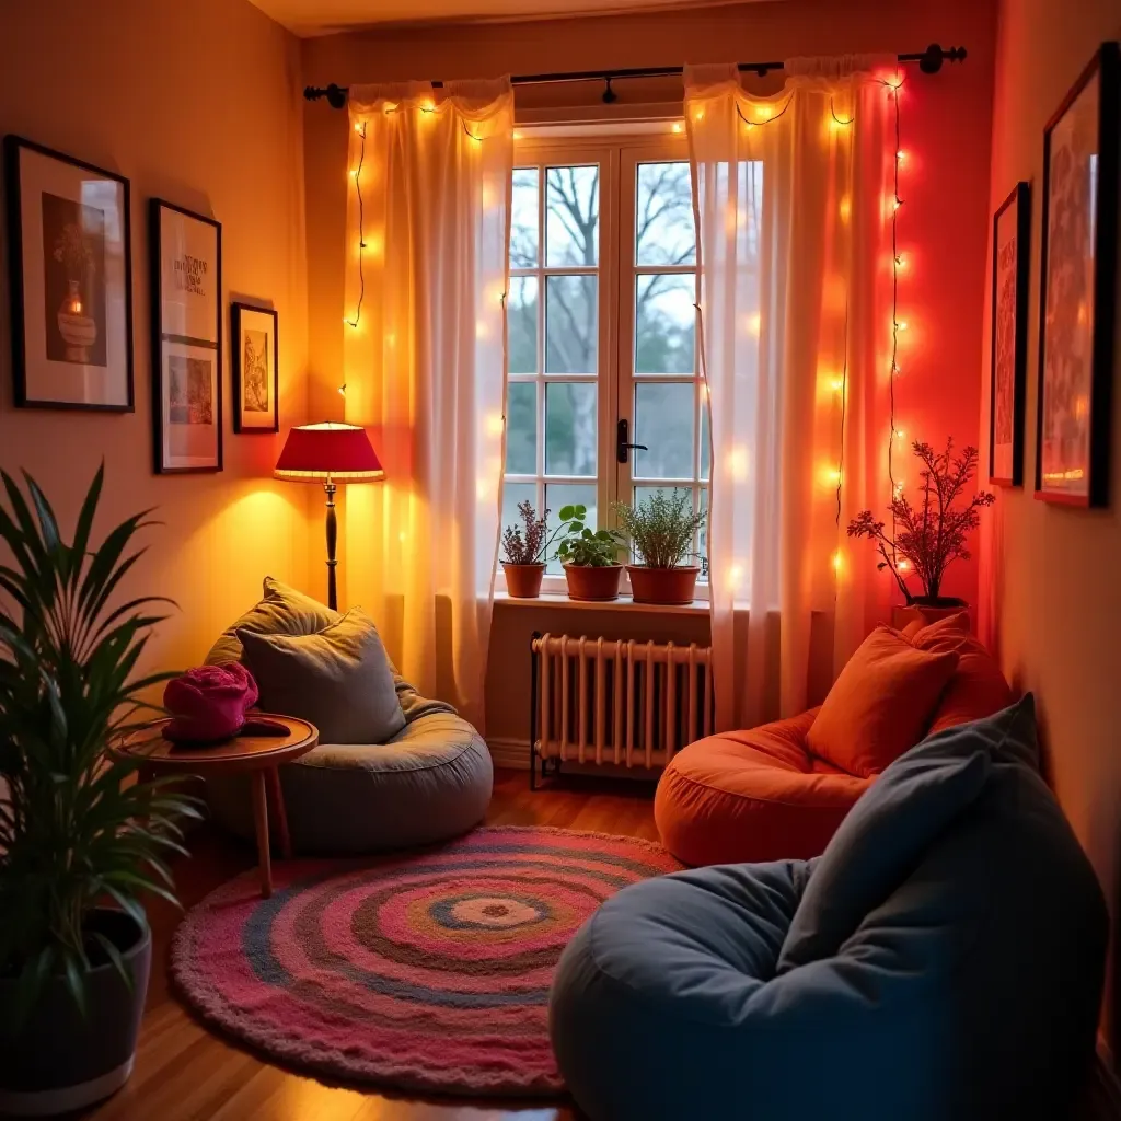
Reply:
<svg viewBox="0 0 1121 1121"><path fill-rule="evenodd" d="M526 499L601 527L659 488L707 507L696 282L684 138L518 142L503 526Z"/></svg>

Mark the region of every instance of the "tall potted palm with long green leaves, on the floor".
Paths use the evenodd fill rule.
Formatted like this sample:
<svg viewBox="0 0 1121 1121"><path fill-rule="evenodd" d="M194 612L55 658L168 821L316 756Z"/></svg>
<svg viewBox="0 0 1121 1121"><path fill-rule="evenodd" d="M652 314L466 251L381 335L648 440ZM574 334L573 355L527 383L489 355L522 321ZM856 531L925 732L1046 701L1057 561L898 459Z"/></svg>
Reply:
<svg viewBox="0 0 1121 1121"><path fill-rule="evenodd" d="M185 851L198 810L174 779L127 785L136 763L108 751L174 676L133 676L161 617L119 596L146 513L92 547L99 470L66 541L34 480L25 498L0 479L0 1113L45 1114L131 1073L151 960L140 900L175 901L161 858Z"/></svg>

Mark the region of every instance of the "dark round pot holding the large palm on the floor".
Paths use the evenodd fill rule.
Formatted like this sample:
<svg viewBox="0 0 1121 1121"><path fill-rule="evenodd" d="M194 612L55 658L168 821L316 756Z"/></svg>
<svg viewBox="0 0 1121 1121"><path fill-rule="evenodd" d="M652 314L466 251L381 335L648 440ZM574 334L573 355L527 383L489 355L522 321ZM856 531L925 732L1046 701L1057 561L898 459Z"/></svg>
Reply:
<svg viewBox="0 0 1121 1121"><path fill-rule="evenodd" d="M90 929L120 951L132 986L111 962L96 964L85 978L83 1018L65 980L48 978L19 1034L12 1039L0 1032L0 1114L49 1117L81 1110L120 1090L132 1074L151 969L151 932L109 908L93 911ZM17 984L0 976L0 1008L11 1007Z"/></svg>

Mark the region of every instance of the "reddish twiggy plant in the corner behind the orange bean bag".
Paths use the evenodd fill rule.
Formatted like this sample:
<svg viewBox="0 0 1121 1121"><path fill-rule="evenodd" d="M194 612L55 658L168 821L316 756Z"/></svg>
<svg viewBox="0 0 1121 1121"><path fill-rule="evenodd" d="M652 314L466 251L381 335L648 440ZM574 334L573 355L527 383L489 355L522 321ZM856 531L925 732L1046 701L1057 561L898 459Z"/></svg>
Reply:
<svg viewBox="0 0 1121 1121"><path fill-rule="evenodd" d="M992 506L994 495L978 491L965 504L963 495L978 466L978 450L965 447L954 455L954 441L946 441L944 452L916 441L911 451L923 463L919 472L916 504L901 490L891 500L891 531L877 521L871 510L864 510L849 522L850 537L867 537L876 543L883 559L878 568L888 568L896 577L907 603L916 596L907 587L914 575L923 584L923 595L937 600L942 580L952 560L967 560L969 535L978 528L982 507Z"/></svg>

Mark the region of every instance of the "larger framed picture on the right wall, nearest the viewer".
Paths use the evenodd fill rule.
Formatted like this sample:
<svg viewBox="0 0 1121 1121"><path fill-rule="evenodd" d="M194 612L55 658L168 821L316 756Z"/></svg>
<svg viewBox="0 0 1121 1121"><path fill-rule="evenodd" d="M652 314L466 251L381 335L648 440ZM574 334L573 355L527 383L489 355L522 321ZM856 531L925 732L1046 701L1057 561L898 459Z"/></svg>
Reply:
<svg viewBox="0 0 1121 1121"><path fill-rule="evenodd" d="M1106 43L1044 132L1036 498L1106 506L1121 50Z"/></svg>

